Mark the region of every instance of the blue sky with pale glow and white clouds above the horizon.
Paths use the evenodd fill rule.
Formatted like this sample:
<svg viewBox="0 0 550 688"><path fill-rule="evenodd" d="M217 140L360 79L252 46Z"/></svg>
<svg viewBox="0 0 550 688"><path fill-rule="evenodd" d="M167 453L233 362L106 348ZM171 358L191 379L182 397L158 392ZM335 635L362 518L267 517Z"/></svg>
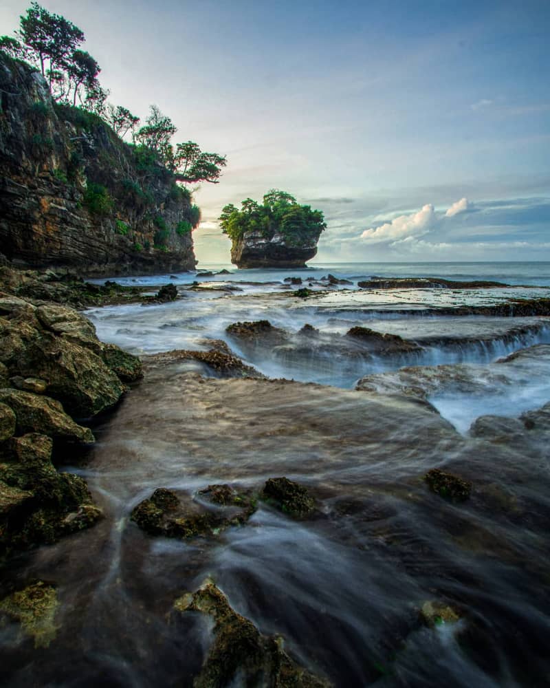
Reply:
<svg viewBox="0 0 550 688"><path fill-rule="evenodd" d="M29 2L3 0L11 34ZM227 155L217 222L269 189L325 213L316 261L550 260L550 0L49 0L110 100Z"/></svg>

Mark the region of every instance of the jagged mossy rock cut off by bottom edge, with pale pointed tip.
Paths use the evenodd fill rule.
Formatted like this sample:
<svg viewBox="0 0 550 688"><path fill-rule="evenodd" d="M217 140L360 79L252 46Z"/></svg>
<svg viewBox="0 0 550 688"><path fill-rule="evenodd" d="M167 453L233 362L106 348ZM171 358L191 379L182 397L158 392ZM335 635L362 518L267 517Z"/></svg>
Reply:
<svg viewBox="0 0 550 688"><path fill-rule="evenodd" d="M264 636L252 621L235 612L223 592L206 581L197 592L174 603L175 612L201 612L214 621L208 656L194 688L263 685L279 688L328 688L327 680L300 667L283 650L282 638Z"/></svg>

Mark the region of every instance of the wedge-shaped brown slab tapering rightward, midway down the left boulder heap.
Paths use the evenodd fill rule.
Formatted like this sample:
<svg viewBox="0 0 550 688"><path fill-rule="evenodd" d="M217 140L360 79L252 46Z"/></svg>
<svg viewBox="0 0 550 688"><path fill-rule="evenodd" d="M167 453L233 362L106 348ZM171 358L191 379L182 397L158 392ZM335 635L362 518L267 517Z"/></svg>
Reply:
<svg viewBox="0 0 550 688"><path fill-rule="evenodd" d="M19 389L0 389L0 402L14 411L18 433L38 432L53 438L94 442L91 430L67 416L55 399Z"/></svg>

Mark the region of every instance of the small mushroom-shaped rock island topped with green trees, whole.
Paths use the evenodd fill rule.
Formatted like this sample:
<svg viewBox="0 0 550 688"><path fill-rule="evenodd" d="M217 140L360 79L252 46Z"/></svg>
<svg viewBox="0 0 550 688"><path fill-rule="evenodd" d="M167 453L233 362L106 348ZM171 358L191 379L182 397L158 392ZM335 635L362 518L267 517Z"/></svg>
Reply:
<svg viewBox="0 0 550 688"><path fill-rule="evenodd" d="M247 198L241 210L225 206L219 219L232 241L231 261L239 268L305 268L327 226L321 211L300 206L276 189L265 194L263 204Z"/></svg>

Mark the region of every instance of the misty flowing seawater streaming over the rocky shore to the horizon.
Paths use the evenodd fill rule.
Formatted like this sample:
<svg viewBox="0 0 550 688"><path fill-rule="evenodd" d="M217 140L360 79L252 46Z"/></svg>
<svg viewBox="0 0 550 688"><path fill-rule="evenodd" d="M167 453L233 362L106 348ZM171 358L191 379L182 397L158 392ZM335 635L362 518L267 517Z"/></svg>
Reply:
<svg viewBox="0 0 550 688"><path fill-rule="evenodd" d="M13 564L15 579L56 583L61 604L50 647L0 629L5 685L192 685L211 627L171 609L208 576L338 686L548 685L550 408L536 409L550 400L550 319L437 308L547 297L549 268L358 264L121 280L151 292L171 281L181 298L87 312L102 340L145 356L146 376L94 428L85 459L63 466L86 478L106 517ZM314 284L319 293L299 299L300 286L283 281L329 272L352 284ZM358 290L371 275L522 286ZM225 330L262 319L283 330L277 341ZM300 333L306 323L313 337ZM347 336L357 325L417 345L373 352ZM211 340L273 379L147 358ZM434 467L470 480L470 500L428 491L423 475ZM309 488L312 517L260 502L245 526L186 541L129 521L159 486L192 500L208 484L259 491L281 475ZM428 601L460 620L421 623Z"/></svg>

